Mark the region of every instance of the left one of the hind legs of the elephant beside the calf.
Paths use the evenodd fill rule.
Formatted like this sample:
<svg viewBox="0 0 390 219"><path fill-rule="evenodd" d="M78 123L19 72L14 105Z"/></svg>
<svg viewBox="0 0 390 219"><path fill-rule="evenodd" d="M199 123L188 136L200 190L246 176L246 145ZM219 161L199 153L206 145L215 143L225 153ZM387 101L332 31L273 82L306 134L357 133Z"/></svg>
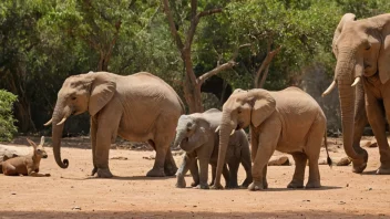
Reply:
<svg viewBox="0 0 390 219"><path fill-rule="evenodd" d="M304 188L307 156L305 153L292 153L291 155L295 160L295 171L287 188Z"/></svg>

